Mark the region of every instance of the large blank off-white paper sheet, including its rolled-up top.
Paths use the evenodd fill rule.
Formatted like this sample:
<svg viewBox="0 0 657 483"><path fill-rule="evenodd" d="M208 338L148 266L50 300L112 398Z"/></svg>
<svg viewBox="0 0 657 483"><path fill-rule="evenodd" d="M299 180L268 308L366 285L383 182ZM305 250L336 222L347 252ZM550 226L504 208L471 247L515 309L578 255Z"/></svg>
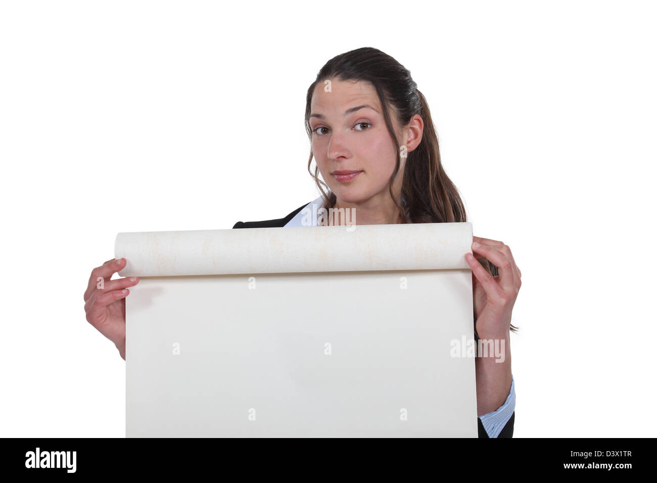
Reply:
<svg viewBox="0 0 657 483"><path fill-rule="evenodd" d="M352 229L353 231L350 231ZM476 437L470 223L119 233L126 435Z"/></svg>

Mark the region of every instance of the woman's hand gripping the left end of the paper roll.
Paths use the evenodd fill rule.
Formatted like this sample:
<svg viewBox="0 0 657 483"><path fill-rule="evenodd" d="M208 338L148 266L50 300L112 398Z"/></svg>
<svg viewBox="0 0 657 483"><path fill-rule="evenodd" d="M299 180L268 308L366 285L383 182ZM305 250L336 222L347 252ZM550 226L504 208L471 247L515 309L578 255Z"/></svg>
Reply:
<svg viewBox="0 0 657 483"><path fill-rule="evenodd" d="M84 310L87 321L114 342L125 360L125 297L130 293L127 287L137 285L139 278L110 280L124 265L125 258L112 258L91 271L89 285L84 292ZM104 288L98 288L98 277L102 277Z"/></svg>

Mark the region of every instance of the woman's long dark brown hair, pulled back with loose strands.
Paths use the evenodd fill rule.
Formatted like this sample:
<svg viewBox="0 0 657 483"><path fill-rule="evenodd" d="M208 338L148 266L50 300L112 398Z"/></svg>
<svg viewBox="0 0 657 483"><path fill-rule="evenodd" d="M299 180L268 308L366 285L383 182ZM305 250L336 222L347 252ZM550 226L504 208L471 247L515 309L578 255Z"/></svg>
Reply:
<svg viewBox="0 0 657 483"><path fill-rule="evenodd" d="M466 212L457 187L447 177L440 162L440 149L438 135L431 118L429 106L424 95L417 88L417 83L411 78L411 72L399 64L397 60L373 47L361 47L328 60L317 73L317 78L308 87L306 93L306 132L312 143L312 129L310 127L310 104L315 87L325 80L338 79L341 81L365 81L371 83L379 101L382 104L383 116L386 120L388 132L396 146L397 161L394 172L390 177L390 197L392 198L403 223L461 223L467 221ZM394 121L400 126L408 124L413 116L418 114L424 122L422 139L416 149L407 153L406 164L402 174L401 200L397 200L393 191L393 182L399 175L401 154L399 141L393 128ZM310 150L308 158L308 172L315 179L315 184L322 193L325 208L333 208L336 195L330 193L328 186L319 179L319 167L315 166L315 173L310 166L313 160L313 151ZM324 191L326 187L329 193ZM497 267L486 258L479 259L486 271L496 276ZM476 318L475 318L476 322ZM511 331L517 327L510 325Z"/></svg>

